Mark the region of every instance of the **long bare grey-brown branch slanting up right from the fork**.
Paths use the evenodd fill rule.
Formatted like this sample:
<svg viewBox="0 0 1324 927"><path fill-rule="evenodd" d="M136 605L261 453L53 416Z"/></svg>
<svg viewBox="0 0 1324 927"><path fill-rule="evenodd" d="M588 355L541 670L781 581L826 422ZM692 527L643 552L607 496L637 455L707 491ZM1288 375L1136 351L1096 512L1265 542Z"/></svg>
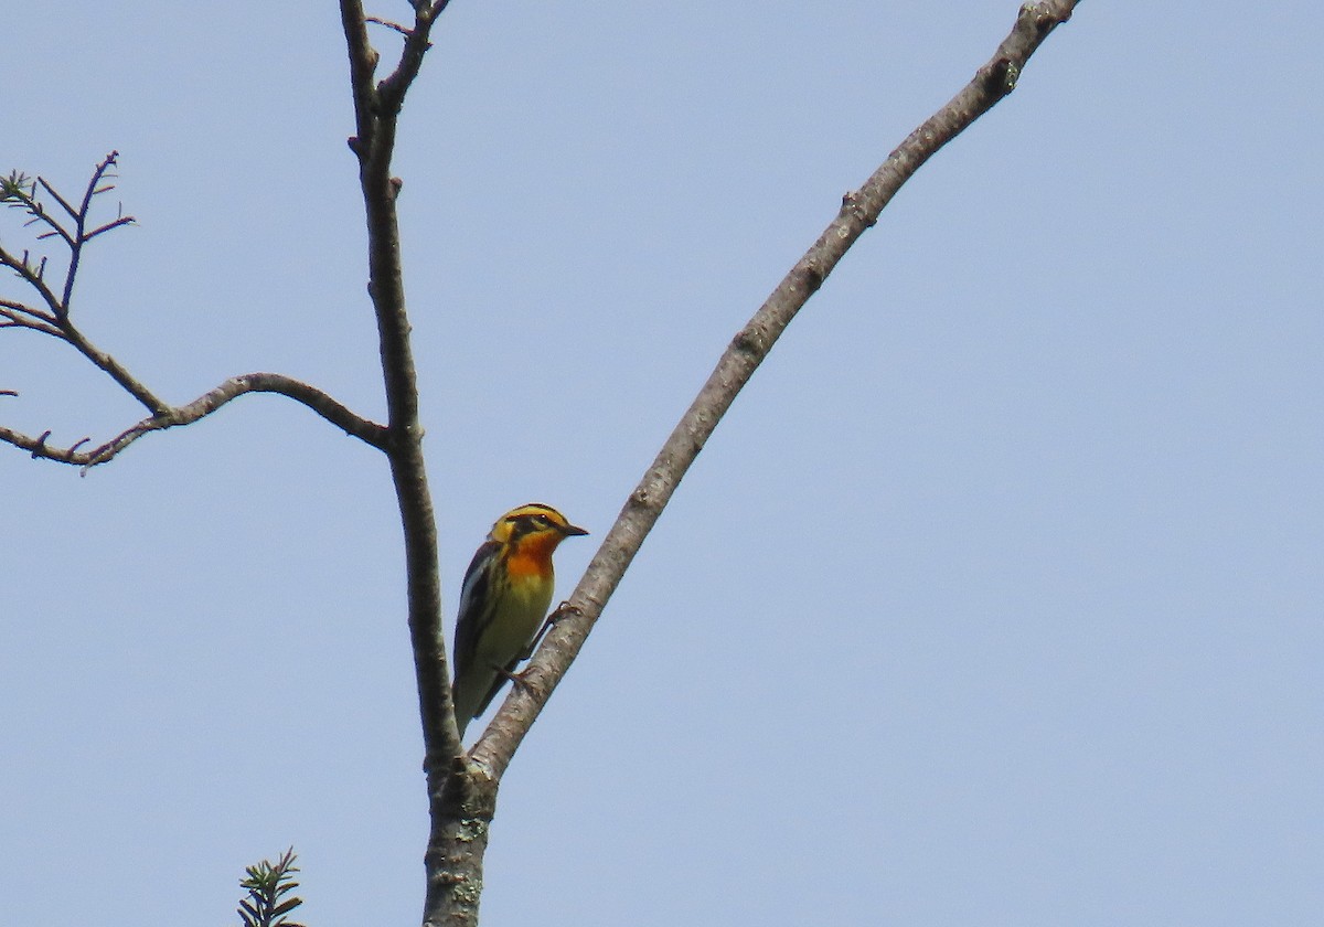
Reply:
<svg viewBox="0 0 1324 927"><path fill-rule="evenodd" d="M1071 17L1078 3L1043 0L1022 5L1012 33L993 58L947 106L911 132L863 187L842 197L837 217L736 334L657 460L630 493L579 587L560 609L560 620L522 674L526 685L511 687L500 711L471 751L473 759L493 776L499 777L510 764L662 509L777 338L846 250L878 220L902 184L939 148L1012 93L1026 61L1055 26Z"/></svg>

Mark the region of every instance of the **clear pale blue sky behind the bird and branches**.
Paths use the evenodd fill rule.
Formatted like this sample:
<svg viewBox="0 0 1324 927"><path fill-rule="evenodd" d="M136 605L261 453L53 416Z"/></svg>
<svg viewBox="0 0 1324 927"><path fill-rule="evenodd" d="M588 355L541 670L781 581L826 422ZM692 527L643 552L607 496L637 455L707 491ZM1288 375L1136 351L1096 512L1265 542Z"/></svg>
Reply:
<svg viewBox="0 0 1324 927"><path fill-rule="evenodd" d="M380 416L335 4L28 7L0 170L74 191L118 148L139 220L90 253L83 330L172 401L270 369ZM527 501L593 532L568 592L730 336L1016 7L455 0L396 160L451 612ZM1321 26L1090 0L902 191L516 757L486 923L1317 918ZM53 440L139 417L24 332L0 388ZM0 477L13 923L229 923L290 844L314 927L416 922L383 460L246 397L82 479Z"/></svg>

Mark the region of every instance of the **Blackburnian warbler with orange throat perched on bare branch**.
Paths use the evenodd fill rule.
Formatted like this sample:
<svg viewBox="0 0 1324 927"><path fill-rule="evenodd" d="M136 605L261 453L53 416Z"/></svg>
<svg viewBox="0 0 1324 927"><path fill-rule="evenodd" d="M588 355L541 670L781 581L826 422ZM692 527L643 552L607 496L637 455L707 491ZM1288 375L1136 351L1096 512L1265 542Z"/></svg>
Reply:
<svg viewBox="0 0 1324 927"><path fill-rule="evenodd" d="M552 551L572 535L588 534L551 506L536 502L496 519L474 554L459 593L455 620L455 724L463 736L528 659L552 604Z"/></svg>

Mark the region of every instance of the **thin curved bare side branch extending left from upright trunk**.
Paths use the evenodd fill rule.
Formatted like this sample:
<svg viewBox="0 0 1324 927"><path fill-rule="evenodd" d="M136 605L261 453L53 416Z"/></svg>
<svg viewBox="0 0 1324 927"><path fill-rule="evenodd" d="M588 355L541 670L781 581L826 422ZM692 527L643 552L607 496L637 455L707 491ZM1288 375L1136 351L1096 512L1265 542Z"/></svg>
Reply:
<svg viewBox="0 0 1324 927"><path fill-rule="evenodd" d="M110 461L144 434L179 425L189 425L200 418L205 418L230 400L238 399L245 393L279 393L287 396L308 407L332 425L344 430L346 434L356 437L379 450L385 449L387 429L384 426L351 412L316 387L285 376L283 373L245 373L242 376L232 376L192 403L177 408L167 405L91 450L79 450L90 438L83 438L69 448L52 448L46 444L50 432L32 437L3 426L0 426L0 441L26 450L34 458L56 461L57 464L70 464L86 470Z"/></svg>

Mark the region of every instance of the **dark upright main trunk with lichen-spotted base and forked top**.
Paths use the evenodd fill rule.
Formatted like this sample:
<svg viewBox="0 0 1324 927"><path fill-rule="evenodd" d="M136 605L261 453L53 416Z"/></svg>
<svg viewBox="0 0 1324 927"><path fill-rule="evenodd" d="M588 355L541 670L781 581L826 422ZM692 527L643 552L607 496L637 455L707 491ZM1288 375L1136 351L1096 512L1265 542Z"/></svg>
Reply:
<svg viewBox="0 0 1324 927"><path fill-rule="evenodd" d="M405 36L400 64L376 86L372 81L379 56L368 44L363 4L342 0L340 15L357 126L350 147L359 159L368 225L368 293L377 320L387 396L387 456L404 528L409 637L422 722L430 817L424 855L428 885L424 923L475 924L496 788L495 780L465 759L451 706L441 625L437 524L422 454L417 373L400 262L396 200L401 184L391 176L400 109L429 48L432 24L446 0L414 0L413 5L413 28L400 29Z"/></svg>

